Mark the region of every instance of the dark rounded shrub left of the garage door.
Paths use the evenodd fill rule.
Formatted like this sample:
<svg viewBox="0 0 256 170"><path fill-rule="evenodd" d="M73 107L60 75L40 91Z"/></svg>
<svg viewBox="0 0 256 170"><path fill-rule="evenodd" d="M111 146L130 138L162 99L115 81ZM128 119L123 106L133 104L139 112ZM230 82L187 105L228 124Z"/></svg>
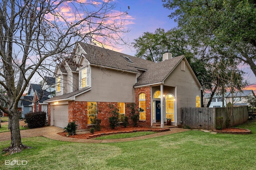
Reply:
<svg viewBox="0 0 256 170"><path fill-rule="evenodd" d="M28 123L28 128L38 128L46 125L46 112L37 111L32 113L27 113L25 115L25 123Z"/></svg>

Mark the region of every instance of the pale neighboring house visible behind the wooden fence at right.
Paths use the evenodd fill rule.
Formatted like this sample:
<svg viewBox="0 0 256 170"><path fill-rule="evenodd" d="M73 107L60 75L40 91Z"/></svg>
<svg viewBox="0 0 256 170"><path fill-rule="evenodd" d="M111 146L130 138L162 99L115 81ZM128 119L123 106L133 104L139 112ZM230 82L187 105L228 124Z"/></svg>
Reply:
<svg viewBox="0 0 256 170"><path fill-rule="evenodd" d="M208 103L210 99L210 93L204 94L204 103ZM226 92L224 98L220 94L214 94L212 102L209 107L222 107L222 101L224 100L224 107L230 102L233 106L249 106L247 103L247 96L255 96L253 90L243 90L242 92L236 91L233 94Z"/></svg>

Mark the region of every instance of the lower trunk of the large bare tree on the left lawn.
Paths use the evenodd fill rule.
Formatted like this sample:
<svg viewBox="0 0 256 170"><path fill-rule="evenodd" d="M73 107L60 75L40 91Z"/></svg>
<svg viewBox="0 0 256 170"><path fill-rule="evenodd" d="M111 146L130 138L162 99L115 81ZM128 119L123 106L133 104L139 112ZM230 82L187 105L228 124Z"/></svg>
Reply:
<svg viewBox="0 0 256 170"><path fill-rule="evenodd" d="M13 154L16 152L21 152L23 149L28 149L26 145L23 145L21 142L20 136L20 123L19 123L19 111L16 109L12 114L8 115L9 125L11 131L11 145L8 148L3 149L4 152Z"/></svg>

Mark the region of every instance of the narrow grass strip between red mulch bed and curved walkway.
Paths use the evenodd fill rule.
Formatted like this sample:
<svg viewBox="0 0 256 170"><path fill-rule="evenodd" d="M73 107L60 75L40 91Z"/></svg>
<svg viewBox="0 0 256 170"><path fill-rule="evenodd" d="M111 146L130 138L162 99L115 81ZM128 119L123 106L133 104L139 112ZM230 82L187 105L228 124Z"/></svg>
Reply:
<svg viewBox="0 0 256 170"><path fill-rule="evenodd" d="M140 136L145 136L145 135L150 135L154 134L156 132L134 132L134 133L120 133L120 134L115 134L115 135L105 135L105 136L100 136L96 137L94 139L124 139L124 138L130 138L130 137L140 137Z"/></svg>

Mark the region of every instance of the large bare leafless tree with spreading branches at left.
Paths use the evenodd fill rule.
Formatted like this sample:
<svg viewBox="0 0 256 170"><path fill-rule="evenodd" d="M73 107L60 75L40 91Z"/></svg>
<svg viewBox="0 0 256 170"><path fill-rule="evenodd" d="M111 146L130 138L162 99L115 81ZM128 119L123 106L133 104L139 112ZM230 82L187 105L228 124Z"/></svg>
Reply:
<svg viewBox="0 0 256 170"><path fill-rule="evenodd" d="M0 109L8 114L11 131L11 145L4 151L28 148L21 142L18 101L34 74L49 73L53 61L70 56L76 42L127 43L122 35L129 31L124 25L128 13L115 8L110 0L0 3L0 85L7 94L1 97L7 108Z"/></svg>

